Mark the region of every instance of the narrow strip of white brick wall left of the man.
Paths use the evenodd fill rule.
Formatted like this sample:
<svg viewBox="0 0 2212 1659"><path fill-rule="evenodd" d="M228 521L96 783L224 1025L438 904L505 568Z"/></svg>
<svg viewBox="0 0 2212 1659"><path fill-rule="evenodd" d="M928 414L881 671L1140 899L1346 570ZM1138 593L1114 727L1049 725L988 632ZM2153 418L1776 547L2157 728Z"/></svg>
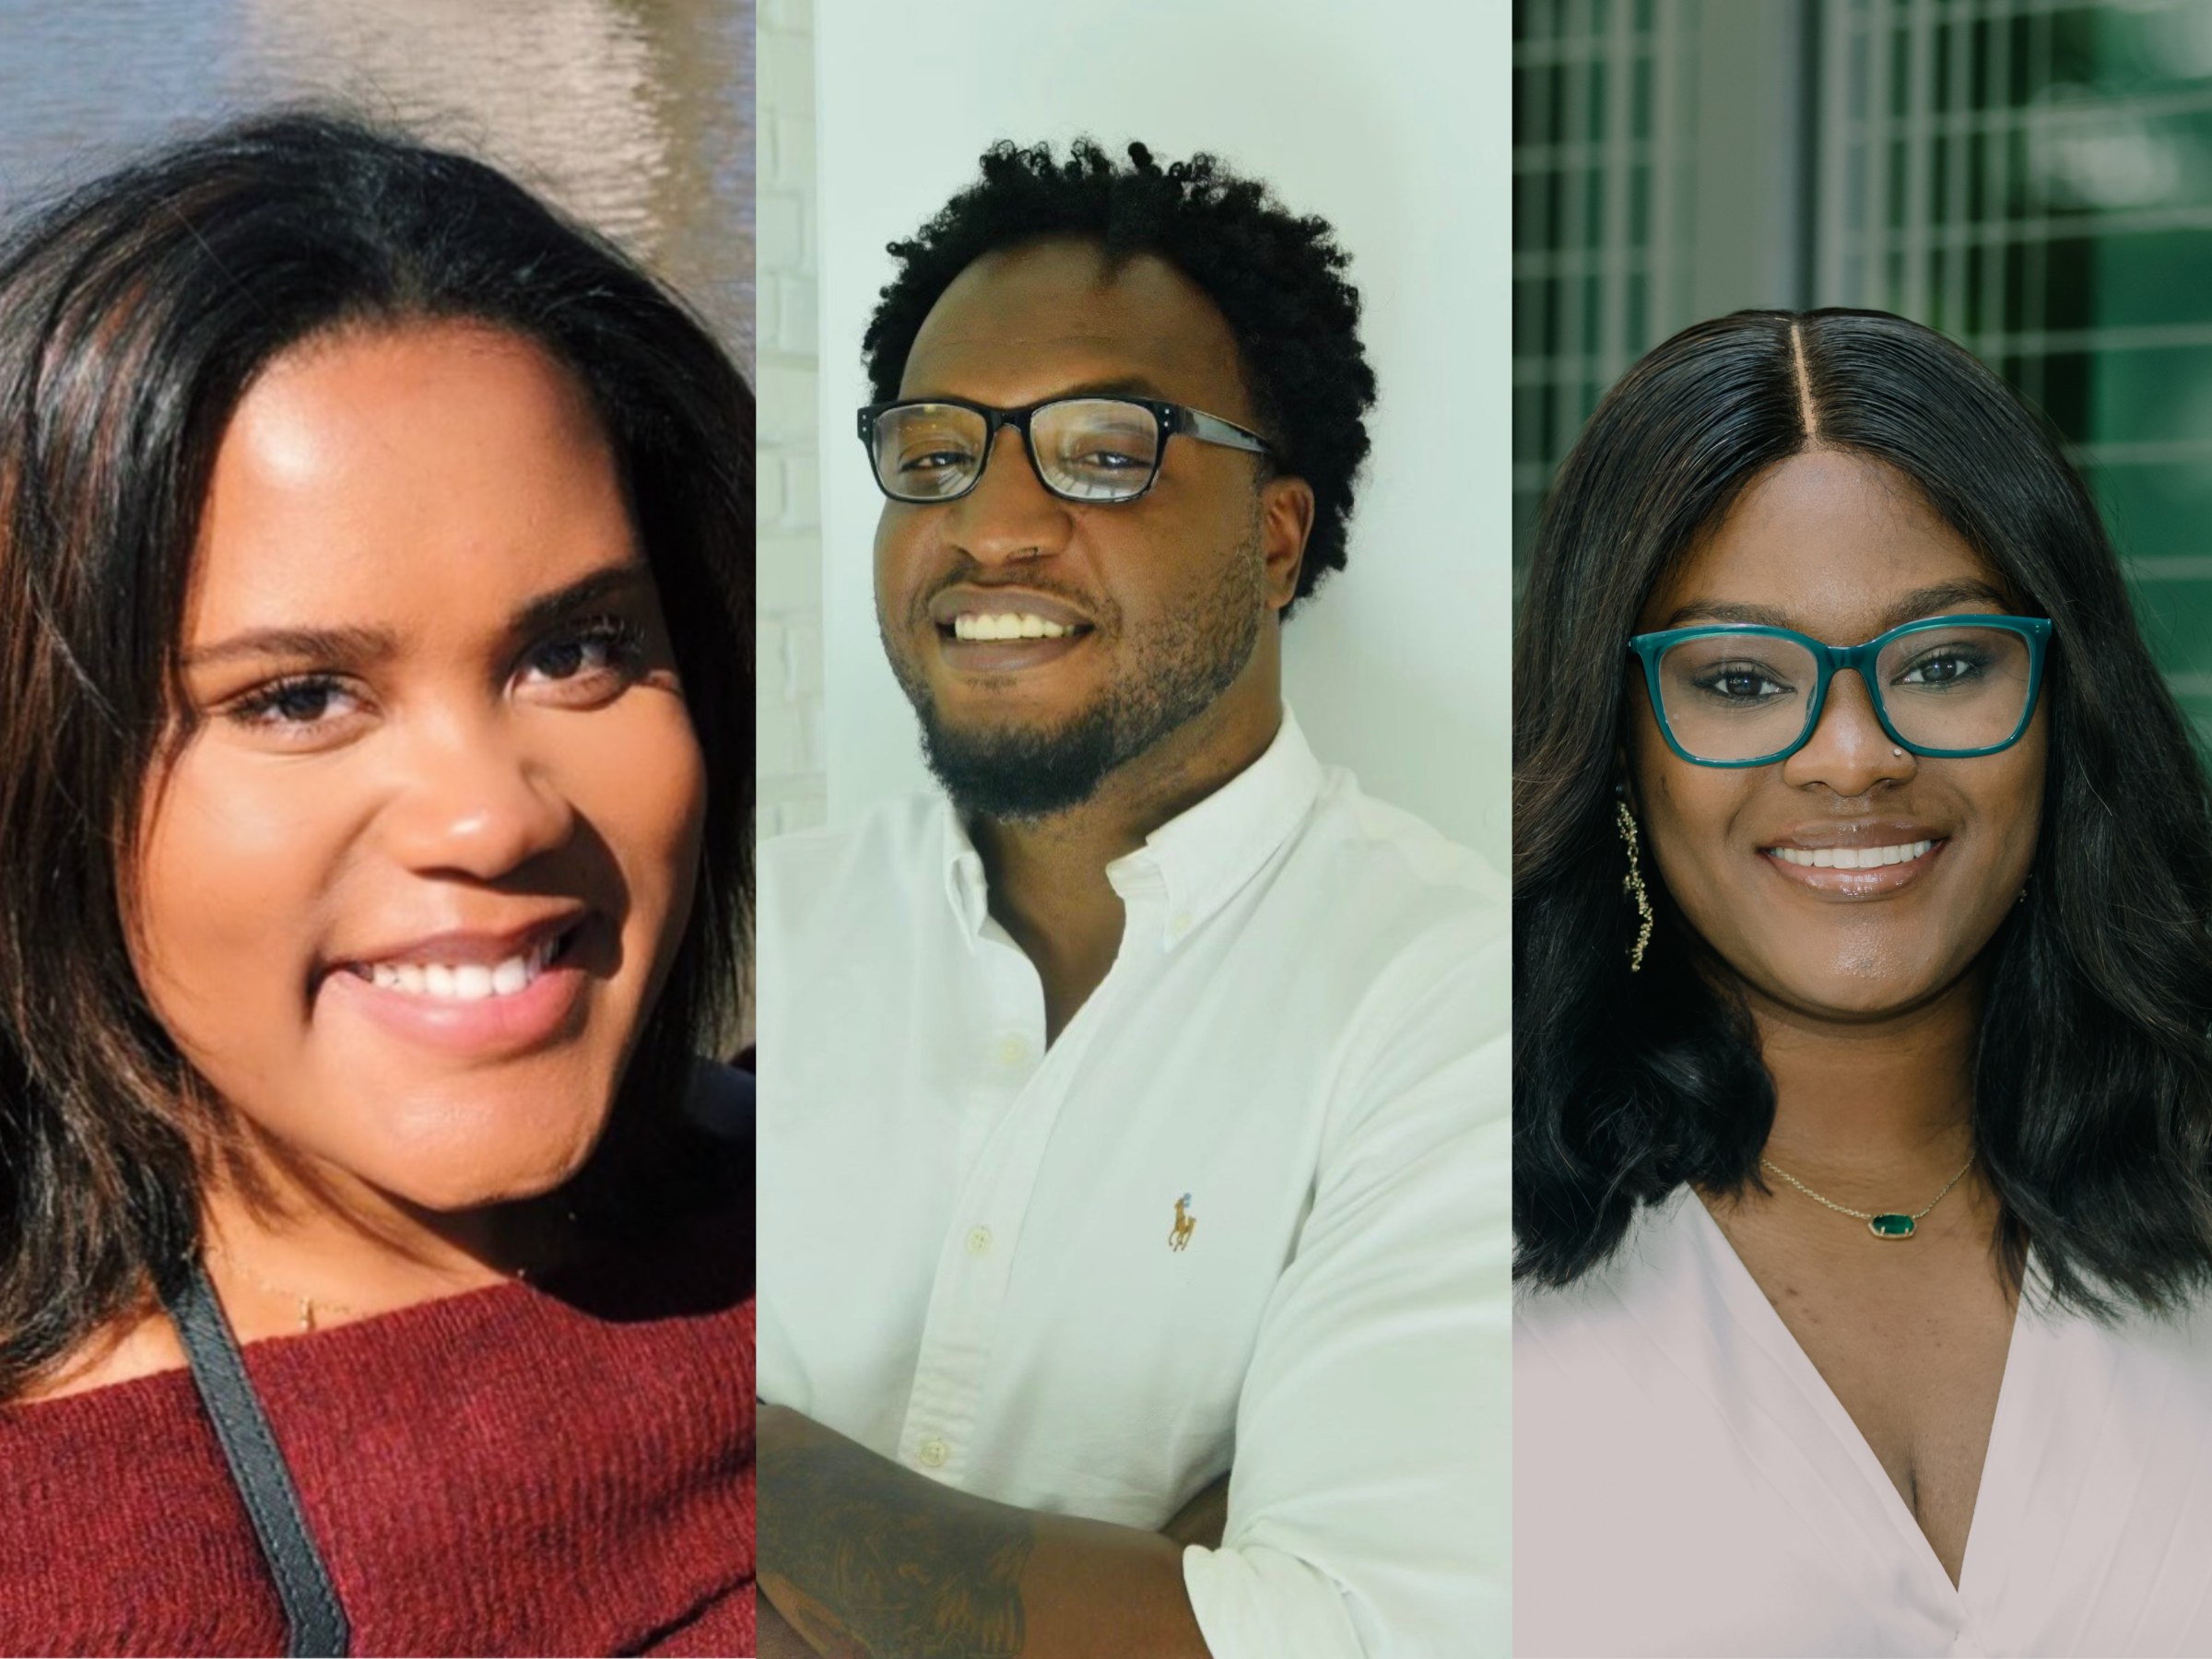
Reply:
<svg viewBox="0 0 2212 1659"><path fill-rule="evenodd" d="M761 838L827 816L823 549L814 434L814 4L759 11L759 664Z"/></svg>

